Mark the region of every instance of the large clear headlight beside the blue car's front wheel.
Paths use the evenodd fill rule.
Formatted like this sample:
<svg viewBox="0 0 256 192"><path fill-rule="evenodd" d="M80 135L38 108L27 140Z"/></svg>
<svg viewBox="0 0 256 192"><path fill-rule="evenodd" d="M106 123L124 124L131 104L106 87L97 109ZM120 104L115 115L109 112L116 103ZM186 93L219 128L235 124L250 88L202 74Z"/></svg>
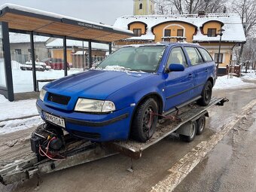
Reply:
<svg viewBox="0 0 256 192"><path fill-rule="evenodd" d="M111 102L111 101L79 98L77 104L75 105L75 111L100 113L100 112L110 112L114 110L115 110L114 102Z"/></svg>

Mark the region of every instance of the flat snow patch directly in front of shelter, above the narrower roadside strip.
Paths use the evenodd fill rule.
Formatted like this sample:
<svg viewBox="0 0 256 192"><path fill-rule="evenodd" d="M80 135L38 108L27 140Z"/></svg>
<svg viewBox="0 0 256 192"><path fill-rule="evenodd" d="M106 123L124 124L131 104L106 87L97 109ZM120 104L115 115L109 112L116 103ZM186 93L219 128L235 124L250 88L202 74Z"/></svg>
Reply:
<svg viewBox="0 0 256 192"><path fill-rule="evenodd" d="M38 114L38 110L35 107L35 101L36 99L27 99L9 102L8 99L5 99L5 96L0 95L0 120Z"/></svg>

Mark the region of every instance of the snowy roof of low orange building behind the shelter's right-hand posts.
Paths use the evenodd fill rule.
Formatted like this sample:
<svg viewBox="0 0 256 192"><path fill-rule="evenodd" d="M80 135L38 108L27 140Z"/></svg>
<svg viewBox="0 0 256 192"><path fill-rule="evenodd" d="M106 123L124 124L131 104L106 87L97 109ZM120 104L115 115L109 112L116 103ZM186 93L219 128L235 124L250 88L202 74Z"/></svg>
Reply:
<svg viewBox="0 0 256 192"><path fill-rule="evenodd" d="M67 39L67 47L83 47L83 41L75 41ZM63 40L61 38L57 38L54 41L51 41L50 43L46 44L47 47L62 47L63 46ZM88 48L88 42L84 41L84 48ZM92 43L92 48L97 50L108 50L109 46L108 44L98 44L98 43Z"/></svg>

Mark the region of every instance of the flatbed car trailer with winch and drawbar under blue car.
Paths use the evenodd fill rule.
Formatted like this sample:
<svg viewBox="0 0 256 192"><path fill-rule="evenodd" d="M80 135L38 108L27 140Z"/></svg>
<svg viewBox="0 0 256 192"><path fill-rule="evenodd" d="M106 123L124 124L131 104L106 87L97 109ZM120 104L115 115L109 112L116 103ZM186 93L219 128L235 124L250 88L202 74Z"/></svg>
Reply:
<svg viewBox="0 0 256 192"><path fill-rule="evenodd" d="M60 146L60 141L56 138L53 139L56 133L54 133L54 130L45 129L45 124L42 124L32 133L30 139L31 148L35 154L32 157L24 157L23 160L17 160L0 169L0 181L5 185L16 181L24 181L115 154L124 154L130 157L133 162L133 159L142 157L142 152L145 149L169 136L171 133L178 133L181 140L191 142L196 133L203 133L206 117L209 117L209 108L215 105L224 105L224 102L227 101L226 98L212 98L209 105L205 107L196 103L182 108L177 107L176 113L178 113L175 117L179 120L164 117L160 119L154 136L145 143L133 140L99 143L90 142L87 139L77 139L69 134L64 134L60 139L62 140L62 147L57 148L58 145ZM54 144L50 143L52 139ZM44 148L45 151L41 149L44 144L47 144L47 148ZM47 155L50 145L53 145L51 147L52 152L51 155ZM54 148L57 148L57 150L54 150ZM133 163L129 170L133 171Z"/></svg>

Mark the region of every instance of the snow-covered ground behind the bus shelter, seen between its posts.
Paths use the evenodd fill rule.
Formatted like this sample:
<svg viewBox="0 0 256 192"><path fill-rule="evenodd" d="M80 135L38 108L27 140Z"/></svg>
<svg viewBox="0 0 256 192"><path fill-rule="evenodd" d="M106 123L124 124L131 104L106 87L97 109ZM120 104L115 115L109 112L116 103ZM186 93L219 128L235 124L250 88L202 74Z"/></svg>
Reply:
<svg viewBox="0 0 256 192"><path fill-rule="evenodd" d="M14 93L24 93L33 91L32 71L22 71L21 69L13 69ZM83 72L83 69L70 69L68 75ZM64 77L63 70L49 70L44 72L36 72L36 78L39 79L57 79ZM39 90L46 83L39 83Z"/></svg>

